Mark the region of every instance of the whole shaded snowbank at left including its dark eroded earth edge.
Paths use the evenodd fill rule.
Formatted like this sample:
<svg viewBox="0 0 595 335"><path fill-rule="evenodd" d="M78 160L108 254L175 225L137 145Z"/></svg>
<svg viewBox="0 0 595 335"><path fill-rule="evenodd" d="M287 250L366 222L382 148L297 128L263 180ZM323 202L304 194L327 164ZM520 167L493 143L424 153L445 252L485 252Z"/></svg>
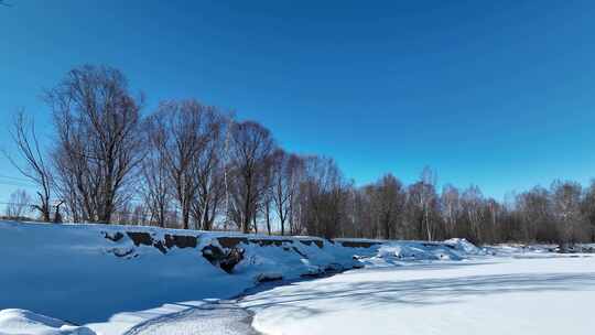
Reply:
<svg viewBox="0 0 595 335"><path fill-rule="evenodd" d="M204 257L205 247L241 250L242 259L228 273ZM311 237L0 221L0 310L126 331L196 302L236 296L259 281L360 267L354 256L366 249Z"/></svg>

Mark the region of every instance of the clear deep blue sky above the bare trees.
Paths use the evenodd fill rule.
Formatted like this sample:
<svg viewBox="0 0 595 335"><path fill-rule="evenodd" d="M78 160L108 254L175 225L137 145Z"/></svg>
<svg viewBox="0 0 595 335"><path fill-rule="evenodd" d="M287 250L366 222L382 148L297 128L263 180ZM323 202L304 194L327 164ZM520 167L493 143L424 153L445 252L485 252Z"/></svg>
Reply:
<svg viewBox="0 0 595 335"><path fill-rule="evenodd" d="M593 1L7 2L4 126L25 107L50 130L42 89L108 64L148 110L188 97L236 110L358 184L410 183L428 164L502 198L595 176ZM17 172L1 160L0 174Z"/></svg>

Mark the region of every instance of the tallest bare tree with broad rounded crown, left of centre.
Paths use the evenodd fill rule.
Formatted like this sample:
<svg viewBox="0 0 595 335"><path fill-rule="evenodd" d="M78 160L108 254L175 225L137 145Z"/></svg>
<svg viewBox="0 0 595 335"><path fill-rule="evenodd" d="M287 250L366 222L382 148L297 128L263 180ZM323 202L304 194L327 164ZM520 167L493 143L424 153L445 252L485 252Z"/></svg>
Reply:
<svg viewBox="0 0 595 335"><path fill-rule="evenodd" d="M74 183L82 218L110 223L128 201L126 188L143 158L140 104L128 93L117 69L86 65L66 75L47 91L57 132L55 161L63 177Z"/></svg>

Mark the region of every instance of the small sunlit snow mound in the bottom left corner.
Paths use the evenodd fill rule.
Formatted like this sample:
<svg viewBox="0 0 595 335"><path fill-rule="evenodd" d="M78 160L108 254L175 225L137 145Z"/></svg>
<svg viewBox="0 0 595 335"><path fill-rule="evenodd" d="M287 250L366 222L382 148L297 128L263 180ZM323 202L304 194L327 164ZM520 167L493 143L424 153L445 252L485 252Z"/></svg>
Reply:
<svg viewBox="0 0 595 335"><path fill-rule="evenodd" d="M0 329L2 334L95 335L95 332L87 327L74 326L57 318L17 309L0 311Z"/></svg>

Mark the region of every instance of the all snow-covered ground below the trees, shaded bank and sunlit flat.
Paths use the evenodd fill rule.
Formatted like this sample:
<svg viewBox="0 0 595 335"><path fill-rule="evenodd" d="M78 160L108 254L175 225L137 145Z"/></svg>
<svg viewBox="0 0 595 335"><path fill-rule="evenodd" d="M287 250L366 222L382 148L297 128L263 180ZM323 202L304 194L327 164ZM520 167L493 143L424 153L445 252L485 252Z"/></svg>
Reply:
<svg viewBox="0 0 595 335"><path fill-rule="evenodd" d="M595 258L552 248L0 221L0 334L592 334Z"/></svg>

